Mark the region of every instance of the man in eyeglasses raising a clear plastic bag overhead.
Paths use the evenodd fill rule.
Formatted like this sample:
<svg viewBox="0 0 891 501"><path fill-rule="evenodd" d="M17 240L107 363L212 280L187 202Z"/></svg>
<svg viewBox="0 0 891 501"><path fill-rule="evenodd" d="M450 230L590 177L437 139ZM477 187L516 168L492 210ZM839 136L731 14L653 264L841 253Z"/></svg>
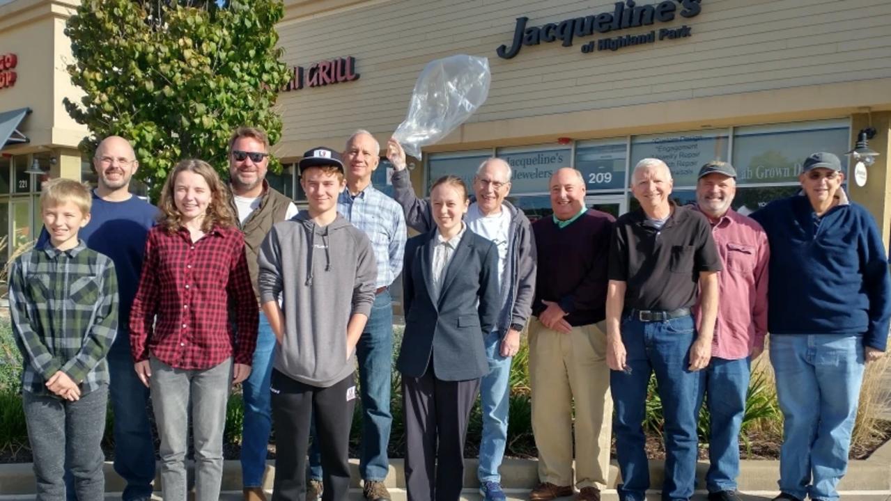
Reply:
<svg viewBox="0 0 891 501"><path fill-rule="evenodd" d="M396 140L388 141L387 157L393 163L396 201L405 211L409 226L418 231L436 228L429 200L415 196L405 170L405 151ZM498 248L498 280L503 306L497 326L486 333L489 373L479 386L483 434L479 444L477 475L486 501L503 501L501 475L507 443L511 359L519 350L519 333L526 327L535 295L535 238L526 214L505 200L511 192L511 166L501 158L483 162L473 178L476 197L464 221L470 230L488 238Z"/></svg>

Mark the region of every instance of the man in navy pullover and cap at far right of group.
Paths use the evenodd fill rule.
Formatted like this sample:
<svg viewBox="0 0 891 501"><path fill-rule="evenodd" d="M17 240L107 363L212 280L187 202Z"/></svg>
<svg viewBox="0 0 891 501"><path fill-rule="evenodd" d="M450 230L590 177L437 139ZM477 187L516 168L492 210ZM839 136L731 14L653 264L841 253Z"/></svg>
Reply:
<svg viewBox="0 0 891 501"><path fill-rule="evenodd" d="M865 363L885 352L891 279L872 215L849 202L838 157L814 153L803 195L752 214L771 246L767 330L785 418L777 500L838 499Z"/></svg>

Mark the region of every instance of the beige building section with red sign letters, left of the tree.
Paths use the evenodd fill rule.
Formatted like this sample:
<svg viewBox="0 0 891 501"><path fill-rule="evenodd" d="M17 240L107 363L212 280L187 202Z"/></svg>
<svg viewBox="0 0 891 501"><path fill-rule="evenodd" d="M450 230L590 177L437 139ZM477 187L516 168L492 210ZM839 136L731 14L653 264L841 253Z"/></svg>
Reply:
<svg viewBox="0 0 891 501"><path fill-rule="evenodd" d="M85 168L90 175L78 151L86 127L62 105L80 95L65 72L72 59L65 20L75 5L0 1L0 264L37 238L41 181L80 179Z"/></svg>

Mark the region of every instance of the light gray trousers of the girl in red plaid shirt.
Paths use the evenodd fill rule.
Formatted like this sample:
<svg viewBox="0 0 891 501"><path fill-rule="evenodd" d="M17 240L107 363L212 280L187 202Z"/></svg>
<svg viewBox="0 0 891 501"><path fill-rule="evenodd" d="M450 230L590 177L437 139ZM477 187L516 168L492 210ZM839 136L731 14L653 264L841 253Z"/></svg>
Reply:
<svg viewBox="0 0 891 501"><path fill-rule="evenodd" d="M151 357L151 402L161 440L165 501L185 501L189 411L195 452L195 500L217 501L223 481L223 429L232 358L202 370L171 368ZM92 499L92 498L90 498Z"/></svg>

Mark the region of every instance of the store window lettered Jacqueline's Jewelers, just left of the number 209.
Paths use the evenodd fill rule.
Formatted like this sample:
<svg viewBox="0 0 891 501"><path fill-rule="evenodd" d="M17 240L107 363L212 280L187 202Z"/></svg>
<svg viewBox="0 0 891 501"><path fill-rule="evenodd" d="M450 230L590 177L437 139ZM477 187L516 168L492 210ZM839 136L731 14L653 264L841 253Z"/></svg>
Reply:
<svg viewBox="0 0 891 501"><path fill-rule="evenodd" d="M511 194L547 193L551 175L572 166L572 149L550 146L499 148L495 151L511 166Z"/></svg>

